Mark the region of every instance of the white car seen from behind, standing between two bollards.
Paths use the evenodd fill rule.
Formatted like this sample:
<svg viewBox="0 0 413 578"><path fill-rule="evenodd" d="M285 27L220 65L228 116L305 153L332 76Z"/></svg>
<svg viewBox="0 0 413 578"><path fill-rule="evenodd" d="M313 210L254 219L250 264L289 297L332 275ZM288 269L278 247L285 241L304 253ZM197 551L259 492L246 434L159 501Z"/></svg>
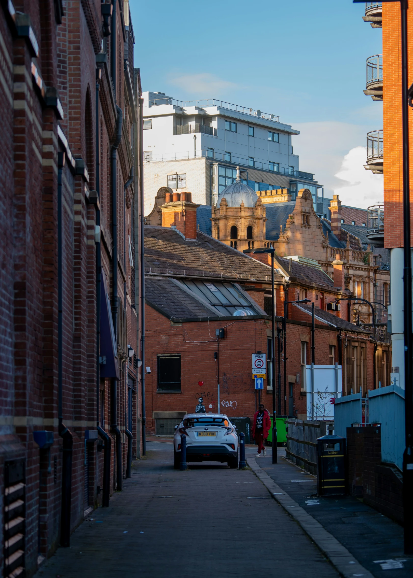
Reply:
<svg viewBox="0 0 413 578"><path fill-rule="evenodd" d="M187 462L227 462L238 468L236 428L223 413L187 413L175 428L174 467L180 464L180 436L186 435Z"/></svg>

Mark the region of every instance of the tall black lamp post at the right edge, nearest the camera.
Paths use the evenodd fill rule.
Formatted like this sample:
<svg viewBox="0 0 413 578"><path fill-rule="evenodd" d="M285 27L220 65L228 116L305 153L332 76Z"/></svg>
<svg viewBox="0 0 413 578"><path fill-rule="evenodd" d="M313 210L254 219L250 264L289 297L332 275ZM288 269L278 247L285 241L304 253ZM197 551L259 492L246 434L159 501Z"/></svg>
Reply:
<svg viewBox="0 0 413 578"><path fill-rule="evenodd" d="M353 2L364 0L353 0ZM403 517L404 553L413 554L413 342L412 342L412 270L410 239L410 175L409 175L409 88L407 77L407 0L400 2L401 13L401 123L403 127L403 301L404 301L404 416L405 450L403 453Z"/></svg>

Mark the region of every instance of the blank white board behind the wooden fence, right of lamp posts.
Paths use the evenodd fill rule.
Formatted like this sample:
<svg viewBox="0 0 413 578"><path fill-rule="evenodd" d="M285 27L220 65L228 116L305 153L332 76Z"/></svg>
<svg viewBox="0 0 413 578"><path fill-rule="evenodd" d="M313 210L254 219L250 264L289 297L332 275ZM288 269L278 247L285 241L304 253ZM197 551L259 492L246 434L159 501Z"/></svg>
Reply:
<svg viewBox="0 0 413 578"><path fill-rule="evenodd" d="M305 366L307 417L311 420L334 420L331 398L340 398L342 392L341 365L314 365L314 389L311 365Z"/></svg>

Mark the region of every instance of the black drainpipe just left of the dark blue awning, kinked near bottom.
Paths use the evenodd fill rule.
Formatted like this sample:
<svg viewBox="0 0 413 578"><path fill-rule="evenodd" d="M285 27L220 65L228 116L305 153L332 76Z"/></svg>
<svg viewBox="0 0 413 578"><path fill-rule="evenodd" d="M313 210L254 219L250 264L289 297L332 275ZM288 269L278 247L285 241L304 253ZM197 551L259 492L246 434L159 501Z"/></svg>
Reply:
<svg viewBox="0 0 413 578"><path fill-rule="evenodd" d="M99 86L100 86L100 69L96 70L96 192L98 199L100 199L100 180L99 180ZM100 229L101 225L101 211L99 203L96 206L96 225ZM109 506L110 495L110 448L112 440L108 433L101 428L99 415L100 402L100 337L101 337L101 283L102 283L102 262L101 262L101 236L100 231L98 235L98 243L96 243L96 429L98 435L104 440L104 475L103 475L103 492L102 492L102 506Z"/></svg>

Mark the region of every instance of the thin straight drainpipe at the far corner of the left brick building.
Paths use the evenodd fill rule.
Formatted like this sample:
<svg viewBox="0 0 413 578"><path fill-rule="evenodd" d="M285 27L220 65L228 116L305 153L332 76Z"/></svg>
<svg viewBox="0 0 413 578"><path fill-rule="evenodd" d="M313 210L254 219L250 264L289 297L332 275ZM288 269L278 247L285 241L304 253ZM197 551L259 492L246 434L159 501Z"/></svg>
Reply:
<svg viewBox="0 0 413 578"><path fill-rule="evenodd" d="M142 455L146 455L145 407L145 222L143 206L143 98L139 98L139 168L141 185L141 384L142 384ZM178 183L176 183L178 185Z"/></svg>

